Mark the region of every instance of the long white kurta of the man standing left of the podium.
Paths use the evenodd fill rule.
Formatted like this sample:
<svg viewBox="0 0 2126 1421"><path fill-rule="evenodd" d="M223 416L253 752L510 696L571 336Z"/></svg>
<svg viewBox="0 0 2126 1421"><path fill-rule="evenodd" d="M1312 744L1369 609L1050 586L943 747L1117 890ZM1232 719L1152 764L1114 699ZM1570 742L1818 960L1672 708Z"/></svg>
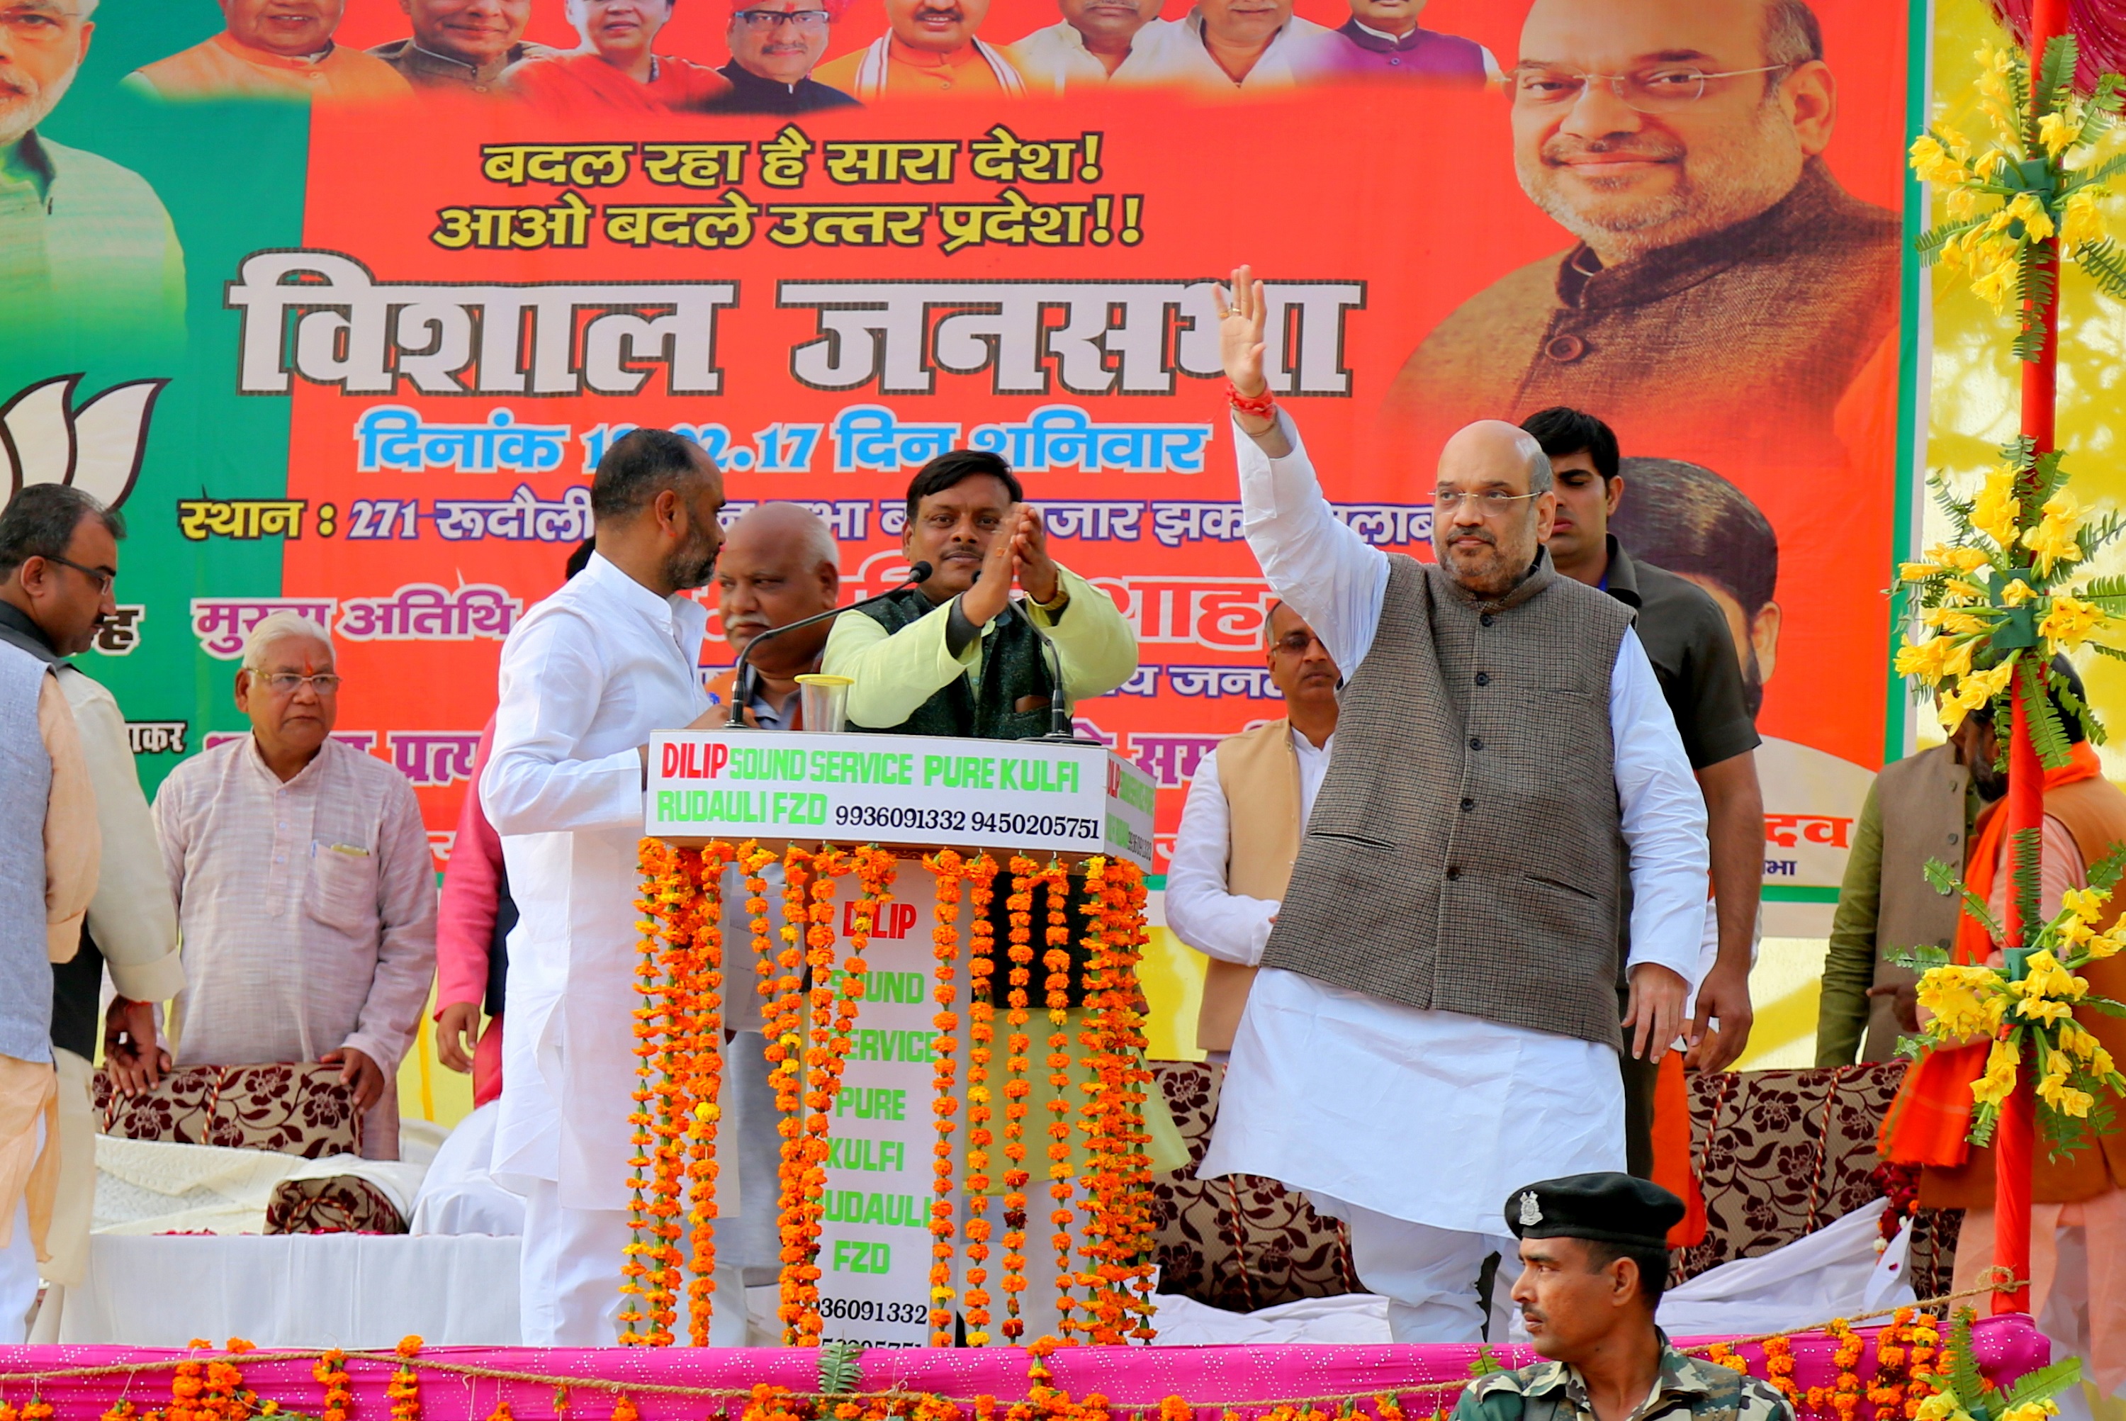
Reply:
<svg viewBox="0 0 2126 1421"><path fill-rule="evenodd" d="M708 613L659 598L602 555L502 647L495 747L480 804L517 898L502 1038L495 1176L544 1178L563 1208L627 1206L636 1085L636 842L651 732L708 710Z"/></svg>

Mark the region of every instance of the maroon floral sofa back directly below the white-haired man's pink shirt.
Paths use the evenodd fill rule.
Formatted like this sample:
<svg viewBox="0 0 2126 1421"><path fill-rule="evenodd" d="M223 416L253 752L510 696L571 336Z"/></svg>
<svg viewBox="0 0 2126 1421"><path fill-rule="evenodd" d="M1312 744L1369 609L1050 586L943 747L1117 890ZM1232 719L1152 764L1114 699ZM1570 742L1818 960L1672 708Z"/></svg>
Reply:
<svg viewBox="0 0 2126 1421"><path fill-rule="evenodd" d="M125 1098L96 1072L104 1134L174 1144L272 1149L319 1159L361 1153L361 1117L338 1066L187 1066Z"/></svg>

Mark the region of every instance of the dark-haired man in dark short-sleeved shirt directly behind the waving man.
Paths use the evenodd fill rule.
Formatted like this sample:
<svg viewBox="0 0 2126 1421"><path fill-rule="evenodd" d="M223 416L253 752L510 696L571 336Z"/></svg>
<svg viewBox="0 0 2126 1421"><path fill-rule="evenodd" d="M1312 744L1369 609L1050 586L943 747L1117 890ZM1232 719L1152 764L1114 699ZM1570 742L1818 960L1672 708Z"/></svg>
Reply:
<svg viewBox="0 0 2126 1421"><path fill-rule="evenodd" d="M1750 1044L1750 962L1756 902L1765 881L1765 796L1756 783L1756 723L1743 700L1741 664L1726 615L1711 596L1652 562L1639 562L1609 532L1624 502L1616 432L1584 411L1554 406L1520 423L1550 455L1558 517L1550 564L1633 608L1633 630L1654 664L1675 715L1690 772L1705 793L1711 836L1714 906L1690 1021L1692 1066L1726 1070ZM1718 1019L1718 1027L1711 1021ZM1658 1057L1656 1057L1658 1061ZM1624 1061L1624 1140L1631 1172L1652 1178L1656 1061Z"/></svg>

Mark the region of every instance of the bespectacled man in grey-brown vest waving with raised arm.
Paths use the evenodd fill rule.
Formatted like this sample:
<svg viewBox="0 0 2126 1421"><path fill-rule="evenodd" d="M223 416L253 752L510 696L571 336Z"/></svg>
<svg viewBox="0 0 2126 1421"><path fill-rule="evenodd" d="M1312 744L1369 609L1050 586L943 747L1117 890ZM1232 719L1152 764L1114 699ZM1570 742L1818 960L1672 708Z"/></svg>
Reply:
<svg viewBox="0 0 2126 1421"><path fill-rule="evenodd" d="M1631 608L1543 557L1531 434L1450 438L1437 566L1388 555L1335 519L1267 398L1246 266L1220 345L1248 545L1346 685L1197 1174L1305 1191L1350 1221L1397 1340L1473 1342L1484 1259L1514 1249L1497 1200L1624 1166L1616 1051L1682 1030L1705 800Z"/></svg>

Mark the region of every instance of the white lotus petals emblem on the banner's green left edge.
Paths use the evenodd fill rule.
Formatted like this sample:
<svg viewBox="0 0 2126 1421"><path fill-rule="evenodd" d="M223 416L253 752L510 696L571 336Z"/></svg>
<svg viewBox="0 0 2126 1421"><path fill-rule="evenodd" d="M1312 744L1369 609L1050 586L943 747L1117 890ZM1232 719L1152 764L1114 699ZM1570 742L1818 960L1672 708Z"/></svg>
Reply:
<svg viewBox="0 0 2126 1421"><path fill-rule="evenodd" d="M79 374L57 374L0 404L0 472L9 498L26 483L70 483L106 508L132 494L155 396L170 381L128 381L74 404Z"/></svg>

